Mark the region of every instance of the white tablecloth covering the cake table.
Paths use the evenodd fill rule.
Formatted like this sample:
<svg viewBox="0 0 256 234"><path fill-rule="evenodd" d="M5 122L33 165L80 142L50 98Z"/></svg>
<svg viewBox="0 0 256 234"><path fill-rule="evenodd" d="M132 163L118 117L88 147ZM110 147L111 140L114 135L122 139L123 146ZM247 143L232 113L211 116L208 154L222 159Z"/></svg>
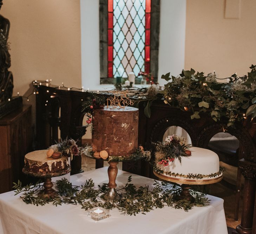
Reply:
<svg viewBox="0 0 256 234"><path fill-rule="evenodd" d="M118 171L117 185L123 186L130 173ZM107 167L71 176L74 185L92 178L95 185L107 183ZM136 186L152 185L153 180L132 175ZM146 233L146 234L227 234L223 200L208 195L207 207L194 207L189 212L165 207L136 216L122 215L117 209L110 210L110 218L94 221L87 217L80 205L63 204L55 207L27 205L14 192L0 194L0 233L22 234L79 234L79 233Z"/></svg>

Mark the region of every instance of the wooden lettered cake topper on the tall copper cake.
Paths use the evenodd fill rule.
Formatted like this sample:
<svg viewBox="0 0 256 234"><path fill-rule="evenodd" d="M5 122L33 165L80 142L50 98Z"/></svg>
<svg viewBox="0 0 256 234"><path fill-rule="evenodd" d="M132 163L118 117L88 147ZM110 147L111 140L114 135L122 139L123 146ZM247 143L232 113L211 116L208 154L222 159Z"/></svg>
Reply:
<svg viewBox="0 0 256 234"><path fill-rule="evenodd" d="M133 105L133 101L127 97L128 91L112 91L114 96L107 98L107 107L112 108L125 108L128 105Z"/></svg>

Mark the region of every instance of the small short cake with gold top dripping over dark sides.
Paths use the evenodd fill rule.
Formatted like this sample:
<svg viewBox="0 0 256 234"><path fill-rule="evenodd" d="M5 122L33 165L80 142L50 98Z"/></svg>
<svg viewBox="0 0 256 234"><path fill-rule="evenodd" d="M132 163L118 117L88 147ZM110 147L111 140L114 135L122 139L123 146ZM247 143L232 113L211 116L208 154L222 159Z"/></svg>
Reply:
<svg viewBox="0 0 256 234"><path fill-rule="evenodd" d="M25 166L23 172L33 176L59 176L67 174L70 171L68 158L62 156L54 159L47 157L48 149L33 151L25 155Z"/></svg>

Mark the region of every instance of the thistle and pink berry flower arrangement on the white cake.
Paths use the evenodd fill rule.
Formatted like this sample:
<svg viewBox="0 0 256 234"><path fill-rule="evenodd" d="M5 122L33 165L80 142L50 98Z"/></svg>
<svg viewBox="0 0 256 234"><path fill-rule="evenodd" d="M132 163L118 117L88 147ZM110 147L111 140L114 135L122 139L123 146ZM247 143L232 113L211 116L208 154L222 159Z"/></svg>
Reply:
<svg viewBox="0 0 256 234"><path fill-rule="evenodd" d="M178 135L169 135L164 139L164 143L153 143L156 147L156 163L168 166L175 158L181 162L182 157L191 155L189 148L192 147L188 144L186 138Z"/></svg>

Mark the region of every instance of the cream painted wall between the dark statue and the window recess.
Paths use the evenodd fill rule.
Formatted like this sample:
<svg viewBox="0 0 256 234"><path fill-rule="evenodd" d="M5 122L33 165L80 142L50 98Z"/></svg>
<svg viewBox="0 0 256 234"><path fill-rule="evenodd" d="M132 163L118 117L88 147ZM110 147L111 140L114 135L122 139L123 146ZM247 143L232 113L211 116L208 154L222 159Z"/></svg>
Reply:
<svg viewBox="0 0 256 234"><path fill-rule="evenodd" d="M79 0L4 0L1 14L11 22L10 71L14 95L33 80L81 87ZM24 101L25 102L25 101Z"/></svg>

